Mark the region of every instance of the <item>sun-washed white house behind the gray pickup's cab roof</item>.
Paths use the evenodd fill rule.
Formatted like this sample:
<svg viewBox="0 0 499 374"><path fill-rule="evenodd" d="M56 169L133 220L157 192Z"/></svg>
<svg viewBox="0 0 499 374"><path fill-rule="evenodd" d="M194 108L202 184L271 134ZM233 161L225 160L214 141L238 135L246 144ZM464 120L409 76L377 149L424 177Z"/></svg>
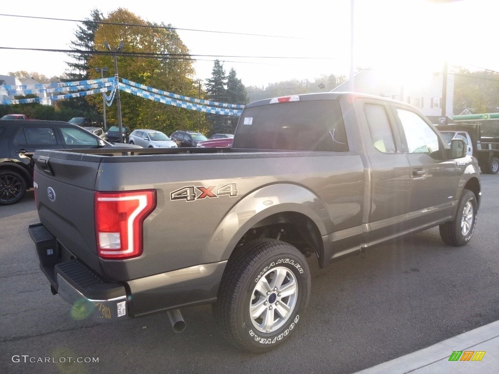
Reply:
<svg viewBox="0 0 499 374"><path fill-rule="evenodd" d="M363 69L354 75L354 91L388 97L414 105L432 123L438 124L443 107L443 73L412 72L409 78L393 70ZM340 84L331 92L348 91L349 81ZM452 119L454 105L454 75L447 74L445 116Z"/></svg>

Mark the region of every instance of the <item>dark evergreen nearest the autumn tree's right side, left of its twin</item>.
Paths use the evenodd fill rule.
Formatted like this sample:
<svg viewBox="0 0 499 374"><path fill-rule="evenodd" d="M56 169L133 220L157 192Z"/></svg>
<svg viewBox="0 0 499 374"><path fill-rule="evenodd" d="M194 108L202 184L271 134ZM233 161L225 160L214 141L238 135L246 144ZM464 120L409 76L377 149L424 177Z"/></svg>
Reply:
<svg viewBox="0 0 499 374"><path fill-rule="evenodd" d="M213 64L212 77L207 79L207 94L211 101L227 103L227 76L224 65L217 59ZM212 125L212 133L228 133L230 131L230 119L220 114L208 114L208 121Z"/></svg>

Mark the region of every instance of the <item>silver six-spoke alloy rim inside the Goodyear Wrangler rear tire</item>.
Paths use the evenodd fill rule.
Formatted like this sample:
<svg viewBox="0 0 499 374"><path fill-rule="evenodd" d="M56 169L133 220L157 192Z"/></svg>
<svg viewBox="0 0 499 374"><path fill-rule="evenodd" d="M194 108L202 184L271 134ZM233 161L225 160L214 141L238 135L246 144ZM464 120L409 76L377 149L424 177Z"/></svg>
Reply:
<svg viewBox="0 0 499 374"><path fill-rule="evenodd" d="M286 323L296 306L298 284L291 270L275 267L261 276L253 289L250 319L254 328L272 333Z"/></svg>

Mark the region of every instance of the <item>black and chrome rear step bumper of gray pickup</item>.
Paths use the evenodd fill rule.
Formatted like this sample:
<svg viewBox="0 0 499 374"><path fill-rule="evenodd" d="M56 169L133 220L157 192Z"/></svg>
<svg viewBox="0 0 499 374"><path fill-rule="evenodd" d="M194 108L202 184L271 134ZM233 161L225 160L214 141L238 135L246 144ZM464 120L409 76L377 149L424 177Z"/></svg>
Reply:
<svg viewBox="0 0 499 374"><path fill-rule="evenodd" d="M28 231L52 293L58 293L72 305L73 318L107 323L128 317L128 299L123 285L105 282L77 259L64 261L60 245L41 223L29 225Z"/></svg>

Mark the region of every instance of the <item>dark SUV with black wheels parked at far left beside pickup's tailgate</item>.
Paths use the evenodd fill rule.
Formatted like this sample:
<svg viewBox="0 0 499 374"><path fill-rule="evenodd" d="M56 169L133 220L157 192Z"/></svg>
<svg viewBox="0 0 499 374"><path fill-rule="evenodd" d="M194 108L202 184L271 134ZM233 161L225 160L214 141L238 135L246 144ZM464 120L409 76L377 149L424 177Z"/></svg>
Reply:
<svg viewBox="0 0 499 374"><path fill-rule="evenodd" d="M19 201L33 187L34 151L115 147L87 130L61 121L0 121L0 205ZM129 144L119 147L140 148Z"/></svg>

